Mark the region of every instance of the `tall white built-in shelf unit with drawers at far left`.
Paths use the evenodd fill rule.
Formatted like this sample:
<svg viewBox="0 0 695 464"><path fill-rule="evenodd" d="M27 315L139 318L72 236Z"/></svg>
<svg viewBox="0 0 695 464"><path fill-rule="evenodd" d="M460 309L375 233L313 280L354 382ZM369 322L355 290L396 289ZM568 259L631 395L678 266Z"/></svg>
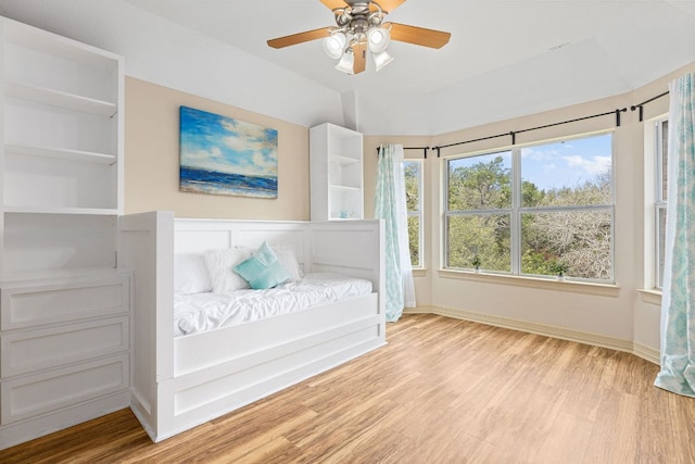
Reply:
<svg viewBox="0 0 695 464"><path fill-rule="evenodd" d="M0 449L130 402L123 63L0 17Z"/></svg>

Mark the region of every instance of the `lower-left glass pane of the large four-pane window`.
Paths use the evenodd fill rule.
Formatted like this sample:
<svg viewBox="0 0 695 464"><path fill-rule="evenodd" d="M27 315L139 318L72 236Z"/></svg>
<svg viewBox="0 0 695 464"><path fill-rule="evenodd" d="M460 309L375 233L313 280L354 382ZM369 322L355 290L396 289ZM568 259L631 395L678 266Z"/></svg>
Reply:
<svg viewBox="0 0 695 464"><path fill-rule="evenodd" d="M473 268L473 258L480 268L511 271L509 214L467 214L448 216L446 238L447 267Z"/></svg>

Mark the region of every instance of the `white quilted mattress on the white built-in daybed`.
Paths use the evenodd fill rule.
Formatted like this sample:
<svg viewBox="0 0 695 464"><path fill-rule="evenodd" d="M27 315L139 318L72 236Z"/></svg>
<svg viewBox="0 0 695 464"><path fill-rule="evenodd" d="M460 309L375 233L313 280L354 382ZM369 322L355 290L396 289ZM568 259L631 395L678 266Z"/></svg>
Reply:
<svg viewBox="0 0 695 464"><path fill-rule="evenodd" d="M269 290L174 294L174 335L197 334L306 310L371 292L371 281L339 274L307 274Z"/></svg>

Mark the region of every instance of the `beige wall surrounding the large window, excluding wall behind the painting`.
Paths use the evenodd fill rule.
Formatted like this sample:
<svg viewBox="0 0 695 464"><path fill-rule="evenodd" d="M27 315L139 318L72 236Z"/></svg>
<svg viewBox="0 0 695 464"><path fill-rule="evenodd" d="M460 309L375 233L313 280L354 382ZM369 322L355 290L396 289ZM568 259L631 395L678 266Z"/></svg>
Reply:
<svg viewBox="0 0 695 464"><path fill-rule="evenodd" d="M416 277L418 305L435 305L451 309L454 313L478 313L491 321L521 321L535 324L535 327L553 327L553 331L558 331L555 328L559 328L566 330L568 336L577 331L595 335L598 340L624 340L623 348L633 346L635 351L646 352L652 359L657 355L660 315L658 297L643 298L644 293L641 291L650 285L649 273L644 263L648 262L647 256L652 253L652 239L645 238L645 224L648 224L653 214L650 205L645 201L645 185L652 181L652 173L648 168L645 170L645 165L649 166L653 162L645 154L645 127L653 124L650 118L668 111L668 98L645 105L643 122L639 121L636 111L630 111L630 106L668 90L669 81L686 72L695 72L695 63L630 93L431 138L366 137L365 179L369 179L367 188L371 190L367 190L365 195L365 211L374 214L370 204L374 187L370 183L374 183L376 155L372 156L372 153L379 143L443 146L628 109L626 113L621 113L620 127L616 127L615 116L609 115L519 134L516 140L517 143L528 143L597 130L612 131L616 179L615 288L608 291L599 287L544 288L529 283L531 279L488 278L470 273L452 275L456 273L441 272L441 186L444 160L458 154L506 149L510 137L502 137L443 149L442 159L437 159L437 154L430 152L431 155L425 162L428 180L425 187L426 271Z"/></svg>

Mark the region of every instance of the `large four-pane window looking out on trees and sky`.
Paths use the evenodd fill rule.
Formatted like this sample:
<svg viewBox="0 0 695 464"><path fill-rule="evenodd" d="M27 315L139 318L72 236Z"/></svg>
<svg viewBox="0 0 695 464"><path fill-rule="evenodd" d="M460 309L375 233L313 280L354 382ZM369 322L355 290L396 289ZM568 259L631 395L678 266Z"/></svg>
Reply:
<svg viewBox="0 0 695 464"><path fill-rule="evenodd" d="M446 161L445 267L612 280L612 136Z"/></svg>

